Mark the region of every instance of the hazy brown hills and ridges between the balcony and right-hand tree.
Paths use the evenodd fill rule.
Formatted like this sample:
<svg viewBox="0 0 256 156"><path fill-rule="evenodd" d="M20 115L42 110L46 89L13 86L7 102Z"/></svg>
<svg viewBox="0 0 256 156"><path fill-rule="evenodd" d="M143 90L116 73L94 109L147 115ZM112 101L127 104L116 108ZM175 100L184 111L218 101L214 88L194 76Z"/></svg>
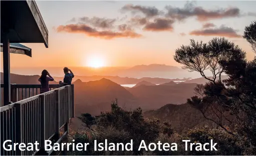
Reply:
<svg viewBox="0 0 256 156"><path fill-rule="evenodd" d="M11 83L40 84L40 75L19 75L11 73ZM102 111L110 110L111 101L118 99L119 105L125 109L141 107L143 111L158 109L165 104L183 104L186 99L194 95L194 87L204 78L128 78L116 76L77 76L73 80L75 93L75 115L90 112L98 115ZM74 78L75 78L74 77ZM58 84L62 77L54 77L51 84ZM82 81L81 79L84 79ZM93 80L92 80L93 79ZM183 82L174 82L182 80ZM192 81L192 82L191 82ZM135 83L133 87L124 87L121 83ZM3 72L1 72L3 83ZM158 85L157 85L158 84ZM73 120L73 128L81 128L78 118Z"/></svg>

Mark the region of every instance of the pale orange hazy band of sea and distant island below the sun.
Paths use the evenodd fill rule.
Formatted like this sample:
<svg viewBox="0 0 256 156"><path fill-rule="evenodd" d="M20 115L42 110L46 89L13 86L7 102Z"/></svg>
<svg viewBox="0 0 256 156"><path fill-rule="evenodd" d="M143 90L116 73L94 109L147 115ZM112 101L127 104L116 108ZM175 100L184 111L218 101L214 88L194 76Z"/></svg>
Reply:
<svg viewBox="0 0 256 156"><path fill-rule="evenodd" d="M11 67L12 73L23 74L23 75L35 75L41 74L43 69L47 69L53 76L63 76L62 67ZM184 77L198 78L201 77L197 72L189 72L181 67L165 65L165 64L149 64L149 65L135 65L132 67L118 67L118 66L103 66L103 67L72 67L69 66L72 71L77 75L75 79L81 79L82 81L91 80L90 77L80 76L119 76L119 77L131 77L131 78L142 78L142 77L157 77L157 78L169 78L169 79L183 79ZM3 71L3 68L1 68ZM210 71L206 72L210 75ZM93 78L92 78L93 80ZM130 83L127 83L130 84ZM134 84L134 83L132 83Z"/></svg>

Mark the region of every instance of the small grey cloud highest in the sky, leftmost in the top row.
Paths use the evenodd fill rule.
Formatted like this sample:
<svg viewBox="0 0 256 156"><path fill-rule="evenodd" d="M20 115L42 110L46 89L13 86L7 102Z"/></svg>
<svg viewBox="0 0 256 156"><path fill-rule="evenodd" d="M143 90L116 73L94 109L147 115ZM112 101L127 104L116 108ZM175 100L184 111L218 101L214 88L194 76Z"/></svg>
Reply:
<svg viewBox="0 0 256 156"><path fill-rule="evenodd" d="M141 6L141 5L133 5L126 4L121 8L122 11L132 11L132 12L142 12L147 17L153 17L159 15L160 11L155 6Z"/></svg>

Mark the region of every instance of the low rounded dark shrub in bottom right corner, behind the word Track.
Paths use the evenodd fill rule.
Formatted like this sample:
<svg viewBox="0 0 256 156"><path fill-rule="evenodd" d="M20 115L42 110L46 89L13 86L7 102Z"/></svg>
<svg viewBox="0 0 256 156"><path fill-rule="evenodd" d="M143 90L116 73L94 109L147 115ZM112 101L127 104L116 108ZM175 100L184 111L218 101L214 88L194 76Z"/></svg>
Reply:
<svg viewBox="0 0 256 156"><path fill-rule="evenodd" d="M217 151L188 151L189 155L243 155L253 154L253 148L248 146L248 141L238 139L234 135L226 133L223 129L210 129L207 126L198 126L189 129L183 134L183 138L190 139L191 142L206 143L212 139L216 144Z"/></svg>

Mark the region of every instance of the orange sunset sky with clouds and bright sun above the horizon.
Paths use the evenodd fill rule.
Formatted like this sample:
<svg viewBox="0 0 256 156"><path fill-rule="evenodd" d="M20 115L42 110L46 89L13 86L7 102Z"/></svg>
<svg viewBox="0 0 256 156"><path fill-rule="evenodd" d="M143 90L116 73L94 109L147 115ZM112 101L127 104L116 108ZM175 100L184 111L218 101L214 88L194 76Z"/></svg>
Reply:
<svg viewBox="0 0 256 156"><path fill-rule="evenodd" d="M36 1L49 48L24 43L32 57L11 54L11 67L179 66L176 48L215 36L234 41L248 59L255 55L241 35L256 19L256 1Z"/></svg>

